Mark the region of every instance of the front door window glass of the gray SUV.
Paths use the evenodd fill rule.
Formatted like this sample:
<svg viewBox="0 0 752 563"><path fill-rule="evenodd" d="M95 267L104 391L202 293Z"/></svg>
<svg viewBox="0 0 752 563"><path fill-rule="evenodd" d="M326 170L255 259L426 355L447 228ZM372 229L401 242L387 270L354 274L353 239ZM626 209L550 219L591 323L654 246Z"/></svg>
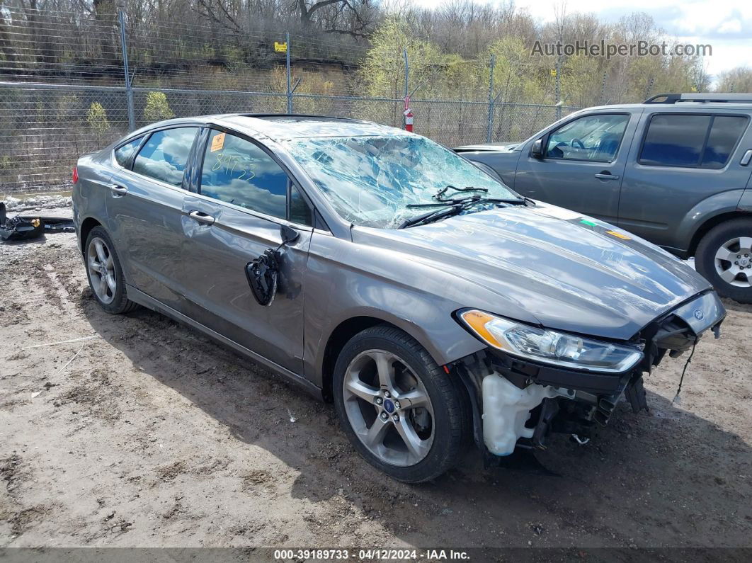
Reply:
<svg viewBox="0 0 752 563"><path fill-rule="evenodd" d="M587 115L570 121L548 137L545 158L611 162L629 123L629 115Z"/></svg>

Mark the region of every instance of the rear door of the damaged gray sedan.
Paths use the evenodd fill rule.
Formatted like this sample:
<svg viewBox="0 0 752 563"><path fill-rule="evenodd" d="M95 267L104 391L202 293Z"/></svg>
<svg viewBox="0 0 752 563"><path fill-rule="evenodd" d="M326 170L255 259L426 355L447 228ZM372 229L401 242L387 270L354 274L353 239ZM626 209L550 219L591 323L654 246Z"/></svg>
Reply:
<svg viewBox="0 0 752 563"><path fill-rule="evenodd" d="M199 128L144 135L115 150L111 235L130 286L180 310L183 175Z"/></svg>

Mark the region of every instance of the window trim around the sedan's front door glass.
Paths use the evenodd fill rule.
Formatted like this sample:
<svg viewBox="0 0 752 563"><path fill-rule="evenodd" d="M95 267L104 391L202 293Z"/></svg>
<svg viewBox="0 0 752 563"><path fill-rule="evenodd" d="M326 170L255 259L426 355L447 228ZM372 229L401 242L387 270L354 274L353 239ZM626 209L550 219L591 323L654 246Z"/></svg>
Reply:
<svg viewBox="0 0 752 563"><path fill-rule="evenodd" d="M217 204L222 205L229 205L232 207L232 209L244 211L245 213L248 213L250 215L256 216L259 219L267 219L272 222L279 223L280 221L284 221L284 223L279 224L285 224L290 226L295 226L298 229L315 229L316 224L316 207L311 202L311 198L308 197L308 194L305 192L305 189L303 189L303 186L298 181L298 179L290 172L290 168L287 168L286 165L284 165L284 162L281 162L280 159L277 159L277 156L274 155L274 153L271 152L271 150L266 147L264 144L260 143L259 141L256 141L253 137L250 135L246 135L245 133L241 133L239 131L236 131L235 129L230 129L229 127L219 125L217 123L206 123L204 126L204 129L208 131L208 135L204 139L202 139L202 145L200 147L196 147L196 192L191 192L193 195L200 195L202 198L207 199L208 201L214 201ZM234 137L240 138L244 141L249 142L250 144L256 145L256 147L259 147L260 150L262 150L266 155L277 164L280 169L285 173L287 176L287 194L285 202L285 216L284 217L277 217L274 215L268 215L267 213L263 213L262 211L256 210L256 209L250 209L248 207L241 207L240 205L235 205L232 203L229 203L229 201L222 201L221 199L212 198L208 195L202 194L201 192L201 180L202 175L204 173L204 158L206 155L206 147L209 144L209 139L211 138L211 130L214 129L215 131L223 132L228 135L232 135ZM198 137L197 137L198 138ZM302 195L303 199L305 200L305 203L308 204L308 207L311 209L311 222L313 222L313 225L302 225L298 222L290 221L290 185L294 183L296 187L298 188L298 191ZM320 230L320 229L319 229Z"/></svg>

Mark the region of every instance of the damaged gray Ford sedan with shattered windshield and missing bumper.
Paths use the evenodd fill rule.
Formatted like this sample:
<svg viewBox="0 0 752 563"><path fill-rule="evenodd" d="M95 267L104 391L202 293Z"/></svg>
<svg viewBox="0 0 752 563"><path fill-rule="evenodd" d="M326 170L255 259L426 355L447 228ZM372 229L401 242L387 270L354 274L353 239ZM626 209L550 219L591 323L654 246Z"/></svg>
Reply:
<svg viewBox="0 0 752 563"><path fill-rule="evenodd" d="M104 310L149 307L331 399L408 482L473 442L584 442L725 316L666 251L374 123L156 123L82 156L73 204Z"/></svg>

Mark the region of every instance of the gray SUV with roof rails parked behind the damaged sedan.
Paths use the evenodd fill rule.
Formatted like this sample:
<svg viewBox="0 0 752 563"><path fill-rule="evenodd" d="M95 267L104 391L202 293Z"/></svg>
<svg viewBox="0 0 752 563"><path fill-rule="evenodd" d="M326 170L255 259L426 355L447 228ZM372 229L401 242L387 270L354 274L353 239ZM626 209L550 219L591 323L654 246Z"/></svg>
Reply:
<svg viewBox="0 0 752 563"><path fill-rule="evenodd" d="M695 256L720 295L752 303L750 116L752 94L662 94L455 150L522 195Z"/></svg>

